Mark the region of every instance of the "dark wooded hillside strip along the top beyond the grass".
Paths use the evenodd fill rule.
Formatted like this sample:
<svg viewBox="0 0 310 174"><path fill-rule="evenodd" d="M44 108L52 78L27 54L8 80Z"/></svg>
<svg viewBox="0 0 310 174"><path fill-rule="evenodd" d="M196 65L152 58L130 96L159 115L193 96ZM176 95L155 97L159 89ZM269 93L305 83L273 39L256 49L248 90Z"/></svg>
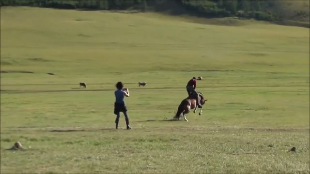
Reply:
<svg viewBox="0 0 310 174"><path fill-rule="evenodd" d="M1 0L1 6L135 10L205 18L239 17L310 27L309 0Z"/></svg>

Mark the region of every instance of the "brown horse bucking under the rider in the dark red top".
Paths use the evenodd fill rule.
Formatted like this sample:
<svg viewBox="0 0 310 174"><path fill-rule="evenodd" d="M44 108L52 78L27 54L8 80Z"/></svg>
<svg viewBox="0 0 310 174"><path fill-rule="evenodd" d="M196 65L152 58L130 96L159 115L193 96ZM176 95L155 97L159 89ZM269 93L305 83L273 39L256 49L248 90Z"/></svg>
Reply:
<svg viewBox="0 0 310 174"><path fill-rule="evenodd" d="M203 105L205 101L207 101L206 99L204 99L203 95L201 92L197 92L199 97L200 97L200 103ZM180 115L181 113L184 116L184 120L188 121L186 119L185 114L188 114L190 112L191 109L195 109L194 113L196 113L197 110L197 104L196 104L196 99L194 96L189 96L186 99L184 99L181 104L179 105L178 111L176 113L176 115L174 116L174 118L180 119ZM202 107L200 108L200 113L199 115L202 115Z"/></svg>

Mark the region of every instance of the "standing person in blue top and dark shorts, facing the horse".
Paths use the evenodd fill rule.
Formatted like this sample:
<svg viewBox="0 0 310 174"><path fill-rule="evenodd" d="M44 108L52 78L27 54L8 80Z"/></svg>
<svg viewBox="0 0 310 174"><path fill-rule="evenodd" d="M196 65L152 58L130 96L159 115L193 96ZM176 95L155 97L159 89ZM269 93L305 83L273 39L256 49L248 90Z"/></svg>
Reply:
<svg viewBox="0 0 310 174"><path fill-rule="evenodd" d="M126 120L126 128L130 130L131 127L129 126L129 118L127 115L127 108L124 101L124 96L129 97L129 90L128 88L123 88L124 84L122 82L117 82L115 94L115 103L114 103L114 114L116 114L115 124L116 129L118 129L118 122L120 119L120 112L124 113L125 120Z"/></svg>

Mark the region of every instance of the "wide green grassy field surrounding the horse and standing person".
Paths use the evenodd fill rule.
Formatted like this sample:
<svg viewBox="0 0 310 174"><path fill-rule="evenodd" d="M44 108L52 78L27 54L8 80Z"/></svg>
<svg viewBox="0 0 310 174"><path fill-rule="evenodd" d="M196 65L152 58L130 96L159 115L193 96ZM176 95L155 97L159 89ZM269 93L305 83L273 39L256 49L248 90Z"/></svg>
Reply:
<svg viewBox="0 0 310 174"><path fill-rule="evenodd" d="M309 174L309 29L237 23L1 8L1 174ZM202 116L171 121L193 76ZM114 129L118 81L130 131Z"/></svg>

